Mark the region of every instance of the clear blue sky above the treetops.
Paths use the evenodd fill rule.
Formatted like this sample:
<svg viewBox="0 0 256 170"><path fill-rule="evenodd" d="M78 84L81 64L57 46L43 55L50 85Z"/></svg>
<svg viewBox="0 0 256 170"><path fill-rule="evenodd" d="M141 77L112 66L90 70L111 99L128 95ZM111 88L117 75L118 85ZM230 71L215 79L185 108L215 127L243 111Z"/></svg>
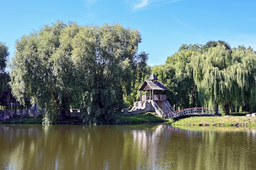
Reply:
<svg viewBox="0 0 256 170"><path fill-rule="evenodd" d="M5 0L0 41L14 55L15 41L56 20L79 25L120 23L138 29L139 52L150 66L164 64L182 44L224 40L256 50L254 0Z"/></svg>

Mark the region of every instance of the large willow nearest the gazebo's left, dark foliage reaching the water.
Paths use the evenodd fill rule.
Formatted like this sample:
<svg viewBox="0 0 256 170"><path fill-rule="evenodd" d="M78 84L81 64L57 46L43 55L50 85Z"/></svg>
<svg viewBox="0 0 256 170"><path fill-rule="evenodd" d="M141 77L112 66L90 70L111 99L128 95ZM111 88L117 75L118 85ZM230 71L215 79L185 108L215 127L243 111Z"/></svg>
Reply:
<svg viewBox="0 0 256 170"><path fill-rule="evenodd" d="M120 24L85 26L74 38L72 60L79 70L78 86L85 123L117 123L135 78L141 42L137 30ZM144 60L146 61L146 60ZM85 81L83 81L85 80Z"/></svg>

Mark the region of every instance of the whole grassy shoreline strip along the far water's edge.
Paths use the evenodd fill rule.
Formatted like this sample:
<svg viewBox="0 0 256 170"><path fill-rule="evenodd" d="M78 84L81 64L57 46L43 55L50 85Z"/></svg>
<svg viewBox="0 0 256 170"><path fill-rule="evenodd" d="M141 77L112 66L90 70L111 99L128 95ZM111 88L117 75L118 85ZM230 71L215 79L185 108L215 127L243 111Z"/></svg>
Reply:
<svg viewBox="0 0 256 170"><path fill-rule="evenodd" d="M38 117L14 117L7 121L0 121L0 124L42 124L43 115ZM183 119L163 119L155 113L139 115L120 115L118 124L145 124L162 123L170 126L182 127L235 127L235 128L256 128L256 117L246 117L245 114L231 116L191 116ZM54 124L83 125L83 120L78 117L69 118L66 121L55 120Z"/></svg>

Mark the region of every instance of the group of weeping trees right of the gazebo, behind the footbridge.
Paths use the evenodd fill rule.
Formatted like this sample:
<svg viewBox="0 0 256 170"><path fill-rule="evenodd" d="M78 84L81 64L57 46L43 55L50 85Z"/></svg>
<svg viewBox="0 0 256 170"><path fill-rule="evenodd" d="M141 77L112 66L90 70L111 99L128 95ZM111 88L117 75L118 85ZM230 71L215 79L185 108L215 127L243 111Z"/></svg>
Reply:
<svg viewBox="0 0 256 170"><path fill-rule="evenodd" d="M171 102L179 108L255 112L255 60L251 47L231 49L224 41L209 41L205 45L182 44L166 64L154 66L153 71L171 89Z"/></svg>

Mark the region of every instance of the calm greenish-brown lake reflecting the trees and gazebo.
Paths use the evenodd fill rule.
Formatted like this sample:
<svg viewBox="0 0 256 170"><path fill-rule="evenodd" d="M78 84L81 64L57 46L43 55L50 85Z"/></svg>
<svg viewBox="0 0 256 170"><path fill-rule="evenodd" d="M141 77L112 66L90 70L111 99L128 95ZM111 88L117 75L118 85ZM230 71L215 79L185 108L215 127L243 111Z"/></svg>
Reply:
<svg viewBox="0 0 256 170"><path fill-rule="evenodd" d="M252 170L256 129L0 125L0 170Z"/></svg>

